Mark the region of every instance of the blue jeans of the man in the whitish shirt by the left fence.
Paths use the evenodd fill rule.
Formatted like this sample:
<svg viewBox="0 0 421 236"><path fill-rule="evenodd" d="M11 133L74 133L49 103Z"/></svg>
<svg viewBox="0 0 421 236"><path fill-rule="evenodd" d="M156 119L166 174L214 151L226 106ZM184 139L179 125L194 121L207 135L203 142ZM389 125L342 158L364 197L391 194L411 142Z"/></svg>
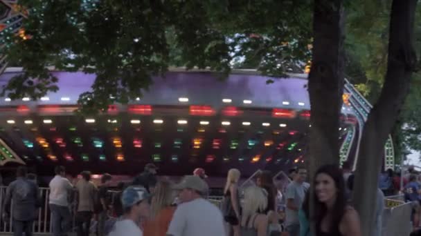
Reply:
<svg viewBox="0 0 421 236"><path fill-rule="evenodd" d="M64 236L71 228L71 215L69 207L50 204L53 236Z"/></svg>

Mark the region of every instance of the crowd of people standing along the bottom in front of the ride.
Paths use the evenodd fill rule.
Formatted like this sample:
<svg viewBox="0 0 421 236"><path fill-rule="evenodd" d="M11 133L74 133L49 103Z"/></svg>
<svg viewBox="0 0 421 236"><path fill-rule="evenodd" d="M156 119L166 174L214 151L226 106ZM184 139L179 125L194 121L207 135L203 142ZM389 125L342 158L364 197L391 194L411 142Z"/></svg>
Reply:
<svg viewBox="0 0 421 236"><path fill-rule="evenodd" d="M361 235L359 216L350 202L355 178L347 162L341 169L322 166L312 183L306 181L307 170L303 166L292 168L286 188L278 186L267 170L258 174L256 184L240 188L240 170L233 168L228 171L220 206L208 200L204 169L197 168L178 184L156 177L156 170L154 164L147 164L132 182L120 183L117 190L111 190L109 174L103 174L96 186L89 171L70 181L65 168L57 166L48 196L52 234L62 236L70 232L74 215L78 236L310 236L310 225L315 227L315 236ZM395 181L391 173L384 175L377 190L375 236L382 235L384 193L391 193L391 188L382 189L387 186L382 181L391 181L392 185ZM421 200L418 180L411 173L405 180L409 201ZM312 213L310 203L314 206ZM3 203L3 217L11 214L15 235L32 235L40 206L36 176L20 166ZM419 224L420 212L413 215L414 224Z"/></svg>

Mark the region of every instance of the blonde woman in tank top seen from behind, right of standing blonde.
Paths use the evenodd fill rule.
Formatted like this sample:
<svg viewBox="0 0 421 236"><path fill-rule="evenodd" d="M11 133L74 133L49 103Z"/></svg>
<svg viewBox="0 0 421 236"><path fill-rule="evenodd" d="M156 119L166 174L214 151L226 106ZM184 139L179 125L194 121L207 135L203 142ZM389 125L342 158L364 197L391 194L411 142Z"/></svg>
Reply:
<svg viewBox="0 0 421 236"><path fill-rule="evenodd" d="M241 236L266 236L268 218L267 192L258 186L251 186L244 191L244 206L241 219Z"/></svg>

